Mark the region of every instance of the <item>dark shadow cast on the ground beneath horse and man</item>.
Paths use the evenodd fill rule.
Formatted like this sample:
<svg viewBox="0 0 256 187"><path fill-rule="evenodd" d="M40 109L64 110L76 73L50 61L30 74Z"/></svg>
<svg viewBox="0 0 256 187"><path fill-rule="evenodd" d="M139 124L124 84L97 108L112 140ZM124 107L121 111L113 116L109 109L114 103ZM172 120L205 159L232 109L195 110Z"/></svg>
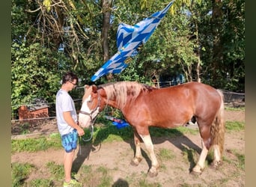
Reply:
<svg viewBox="0 0 256 187"><path fill-rule="evenodd" d="M94 131L97 131L97 128L94 127ZM97 132L97 135L94 137L94 142L92 140L88 142L82 142L81 150L77 153L77 157L74 160L74 167L73 171L78 172L79 168L81 168L85 159L88 159L90 156L91 151L94 152L95 148L98 147L97 151L100 151L100 145L102 142L109 137L109 135L118 135L121 137L129 146L132 148L134 155L135 155L135 144L133 141L133 131L132 127L128 126L123 129L116 129L115 126L106 126L104 128L100 128ZM150 128L150 135L153 141L153 144L162 144L165 141L169 141L175 147L182 151L186 151L187 159L190 163L189 171L195 166L195 159L193 156L193 150L196 151L198 154L201 153L201 147L198 147L197 144L192 142L183 132L180 132L178 129L161 129L161 128ZM200 135L198 133L198 138ZM80 142L81 143L81 142ZM189 148L188 148L189 147ZM171 147L170 147L171 149ZM147 162L149 169L151 167L151 161L148 157L145 150L141 148L141 154ZM132 159L132 158L131 158ZM118 182L119 183L119 182ZM120 182L121 183L121 182Z"/></svg>

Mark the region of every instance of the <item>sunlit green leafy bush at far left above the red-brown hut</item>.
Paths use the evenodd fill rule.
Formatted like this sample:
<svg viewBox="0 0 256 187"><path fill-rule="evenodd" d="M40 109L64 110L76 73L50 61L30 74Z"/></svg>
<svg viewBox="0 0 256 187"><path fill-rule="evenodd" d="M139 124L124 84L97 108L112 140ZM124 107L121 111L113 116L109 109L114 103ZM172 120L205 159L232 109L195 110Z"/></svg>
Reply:
<svg viewBox="0 0 256 187"><path fill-rule="evenodd" d="M11 52L12 105L18 108L38 97L52 102L61 80L56 73L58 58L49 49L42 49L39 43L28 47L25 43L13 43Z"/></svg>

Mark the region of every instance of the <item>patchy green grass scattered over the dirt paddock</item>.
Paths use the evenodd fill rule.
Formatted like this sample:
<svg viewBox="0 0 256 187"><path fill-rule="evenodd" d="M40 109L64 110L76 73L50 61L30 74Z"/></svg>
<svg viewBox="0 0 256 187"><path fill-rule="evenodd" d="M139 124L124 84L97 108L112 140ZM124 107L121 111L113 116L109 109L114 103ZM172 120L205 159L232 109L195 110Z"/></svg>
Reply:
<svg viewBox="0 0 256 187"><path fill-rule="evenodd" d="M133 138L132 128L126 127L124 129L116 129L112 123L107 122L103 123L106 125L102 125L101 123L97 124L94 128L94 136L91 141L82 142L82 144L100 144L105 142L112 142L112 141L124 141L130 140ZM228 121L226 122L226 129L227 132L239 132L240 130L245 129L245 123L237 122L237 121ZM85 139L90 137L90 130L85 129ZM150 127L150 135L152 137L169 137L175 138L182 135L200 135L198 134L198 129L191 129L185 126L180 126L176 129L161 129L156 127ZM25 140L12 140L12 153L21 152L21 151L28 151L28 152L36 152L38 150L47 150L49 147L54 147L56 149L61 148L61 138L58 133L49 135L49 136L42 136L40 138L28 138ZM62 148L61 148L62 149ZM177 155L171 149L161 148L157 152L157 158L160 161L167 161L171 160L171 162L175 162L178 159ZM232 167L232 171L228 172L228 175L224 175L222 178L219 179L218 183L208 183L208 185L213 186L222 186L228 184L229 180L236 181L239 174L242 176L245 172L245 155L240 153L238 150L231 150L231 153L234 157L230 158L224 156L223 161L225 165ZM186 165L195 165L195 162L198 160L198 153L196 150L193 150L190 147L184 147L182 150L183 162ZM125 156L124 156L125 157ZM131 159L131 158L128 158ZM207 159L213 159L213 155L210 153L207 156ZM85 161L86 162L86 161ZM34 165L29 163L12 163L12 186L60 186L62 185L62 181L64 179L64 168L63 165L57 165L55 162L48 162L45 164L47 169L47 174L50 176L48 179L34 179L30 181L26 181L30 174L37 170ZM127 167L131 167L128 166ZM165 168L162 168L165 167ZM181 170L184 170L184 175L188 175L188 168L183 168L180 166ZM168 171L168 165L161 166L160 173L163 174ZM175 168L173 168L175 170ZM206 168L210 169L210 168ZM225 170L225 168L221 168L220 171ZM141 173L131 173L125 174L124 178L118 178L116 181L114 180L114 173L117 172L117 168L107 168L106 166L102 165L98 168L95 168L94 165L82 165L79 168L79 172L72 172L73 177L78 177L79 180L86 184L86 186L91 187L117 187L117 186L157 186L161 187L162 183L159 182L158 177L156 180L149 180L147 177L146 171L141 171ZM241 178L241 177L240 177ZM242 177L243 178L243 177ZM173 176L168 180L170 183L173 181ZM182 178L181 178L182 179ZM177 178L175 178L177 180ZM202 183L204 186L205 182L200 180L200 177L195 178L197 181L198 186ZM184 183L180 183L180 186L193 186L189 185L187 182L188 180L184 180ZM194 185L195 186L195 185Z"/></svg>

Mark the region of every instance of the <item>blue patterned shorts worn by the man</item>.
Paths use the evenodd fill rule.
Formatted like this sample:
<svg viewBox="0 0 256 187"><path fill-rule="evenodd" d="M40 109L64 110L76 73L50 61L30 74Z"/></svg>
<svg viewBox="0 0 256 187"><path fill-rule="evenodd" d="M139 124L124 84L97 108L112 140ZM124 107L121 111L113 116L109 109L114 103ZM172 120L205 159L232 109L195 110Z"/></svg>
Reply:
<svg viewBox="0 0 256 187"><path fill-rule="evenodd" d="M76 150L77 139L78 133L76 129L73 129L73 132L70 132L67 135L61 135L61 144L67 153Z"/></svg>

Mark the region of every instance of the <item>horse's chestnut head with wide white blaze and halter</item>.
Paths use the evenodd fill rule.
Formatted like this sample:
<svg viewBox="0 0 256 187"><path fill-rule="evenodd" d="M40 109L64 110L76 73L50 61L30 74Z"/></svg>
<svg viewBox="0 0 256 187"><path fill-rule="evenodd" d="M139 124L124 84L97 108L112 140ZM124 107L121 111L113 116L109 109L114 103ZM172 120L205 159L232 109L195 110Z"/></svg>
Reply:
<svg viewBox="0 0 256 187"><path fill-rule="evenodd" d="M100 112L100 94L96 85L85 85L85 94L82 97L82 107L79 111L79 126L90 126Z"/></svg>

